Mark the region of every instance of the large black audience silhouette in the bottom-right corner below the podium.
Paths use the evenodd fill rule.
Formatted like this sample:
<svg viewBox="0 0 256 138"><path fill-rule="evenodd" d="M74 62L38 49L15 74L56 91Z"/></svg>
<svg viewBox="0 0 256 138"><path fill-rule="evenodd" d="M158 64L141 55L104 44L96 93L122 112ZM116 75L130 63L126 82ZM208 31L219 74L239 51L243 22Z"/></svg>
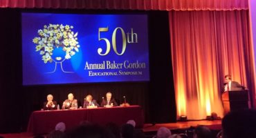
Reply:
<svg viewBox="0 0 256 138"><path fill-rule="evenodd" d="M256 110L229 112L222 119L223 138L256 137Z"/></svg>

